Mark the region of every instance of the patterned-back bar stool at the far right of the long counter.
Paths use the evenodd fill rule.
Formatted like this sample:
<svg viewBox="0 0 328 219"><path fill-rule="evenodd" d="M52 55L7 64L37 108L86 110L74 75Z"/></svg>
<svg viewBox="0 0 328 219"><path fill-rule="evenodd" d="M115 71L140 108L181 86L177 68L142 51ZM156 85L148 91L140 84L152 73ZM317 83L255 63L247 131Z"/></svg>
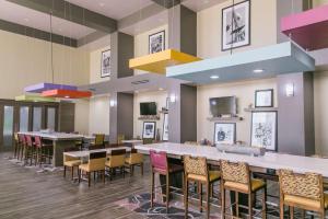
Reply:
<svg viewBox="0 0 328 219"><path fill-rule="evenodd" d="M328 208L328 194L324 194L323 175L316 173L296 174L290 170L280 170L279 185L281 219L284 216L285 205L290 207L291 218L294 218L294 207L318 212L319 218L325 218L325 210Z"/></svg>

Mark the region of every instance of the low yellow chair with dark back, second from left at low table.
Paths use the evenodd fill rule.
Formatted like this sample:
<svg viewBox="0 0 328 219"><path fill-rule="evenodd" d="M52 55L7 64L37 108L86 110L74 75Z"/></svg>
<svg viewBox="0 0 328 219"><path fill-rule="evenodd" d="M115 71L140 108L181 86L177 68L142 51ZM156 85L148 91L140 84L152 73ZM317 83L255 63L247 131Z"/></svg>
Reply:
<svg viewBox="0 0 328 219"><path fill-rule="evenodd" d="M103 182L105 183L105 163L106 163L106 151L90 153L89 162L79 165L79 183L81 182L81 174L85 172L87 174L87 184L90 187L91 173L102 172Z"/></svg>

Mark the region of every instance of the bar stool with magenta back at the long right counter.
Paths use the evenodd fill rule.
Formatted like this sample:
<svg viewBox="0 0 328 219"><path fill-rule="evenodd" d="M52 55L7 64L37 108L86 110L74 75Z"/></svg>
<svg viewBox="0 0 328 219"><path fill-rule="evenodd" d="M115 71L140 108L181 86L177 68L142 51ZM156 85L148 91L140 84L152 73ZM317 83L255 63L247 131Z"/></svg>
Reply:
<svg viewBox="0 0 328 219"><path fill-rule="evenodd" d="M151 160L151 166L152 166L152 174L151 174L151 208L153 208L154 204L154 177L155 173L159 173L160 175L165 175L166 183L164 185L161 185L160 187L165 186L165 195L163 195L166 198L166 212L168 212L168 203L169 203L169 174L184 172L184 166L177 165L177 164L171 164L167 162L167 155L165 152L156 152L151 150L150 151L150 160Z"/></svg>

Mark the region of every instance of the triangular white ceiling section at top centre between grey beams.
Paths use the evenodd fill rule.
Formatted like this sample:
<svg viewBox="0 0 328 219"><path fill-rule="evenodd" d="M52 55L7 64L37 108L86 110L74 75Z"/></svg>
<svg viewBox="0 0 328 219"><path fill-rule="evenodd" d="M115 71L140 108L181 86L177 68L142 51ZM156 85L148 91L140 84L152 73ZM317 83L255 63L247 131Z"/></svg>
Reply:
<svg viewBox="0 0 328 219"><path fill-rule="evenodd" d="M79 7L120 20L153 3L151 0L67 0Z"/></svg>

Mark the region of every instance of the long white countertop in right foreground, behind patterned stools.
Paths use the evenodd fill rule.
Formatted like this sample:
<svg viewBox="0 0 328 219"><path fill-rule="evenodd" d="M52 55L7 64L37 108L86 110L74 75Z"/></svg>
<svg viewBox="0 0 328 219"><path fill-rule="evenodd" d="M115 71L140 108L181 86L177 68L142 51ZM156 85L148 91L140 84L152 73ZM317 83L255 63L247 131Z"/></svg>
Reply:
<svg viewBox="0 0 328 219"><path fill-rule="evenodd" d="M328 177L328 159L309 158L302 155L291 155L267 152L263 157L251 157L235 153L224 153L214 147L201 147L181 143L152 143L136 146L140 151L165 151L174 155L206 157L208 160L227 160L232 162L247 162L251 166L263 169L290 169L297 173L314 172Z"/></svg>

